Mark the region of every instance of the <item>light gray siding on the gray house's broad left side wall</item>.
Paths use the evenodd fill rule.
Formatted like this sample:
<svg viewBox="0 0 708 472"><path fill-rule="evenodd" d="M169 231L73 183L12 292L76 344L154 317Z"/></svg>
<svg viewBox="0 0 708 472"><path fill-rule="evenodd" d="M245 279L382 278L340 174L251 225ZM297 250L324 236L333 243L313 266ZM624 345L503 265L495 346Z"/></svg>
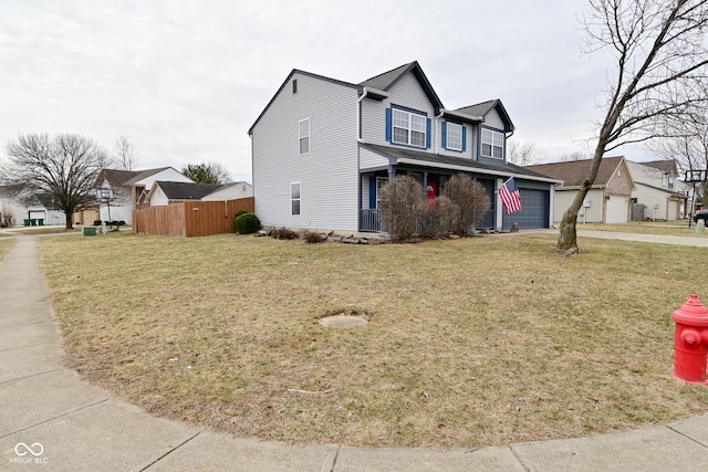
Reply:
<svg viewBox="0 0 708 472"><path fill-rule="evenodd" d="M292 93L298 80L298 93ZM253 197L262 224L358 229L357 92L295 73L252 129ZM310 118L310 153L300 155L299 122ZM300 182L300 214L290 185Z"/></svg>

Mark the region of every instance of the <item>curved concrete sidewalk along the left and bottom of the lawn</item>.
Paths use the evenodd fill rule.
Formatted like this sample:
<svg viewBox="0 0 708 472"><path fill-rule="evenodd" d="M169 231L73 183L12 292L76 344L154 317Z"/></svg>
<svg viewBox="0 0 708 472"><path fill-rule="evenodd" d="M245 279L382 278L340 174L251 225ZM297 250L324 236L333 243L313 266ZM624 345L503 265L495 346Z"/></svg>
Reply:
<svg viewBox="0 0 708 472"><path fill-rule="evenodd" d="M624 433L500 448L292 447L152 417L63 365L35 237L0 261L0 470L705 471L708 415Z"/></svg>

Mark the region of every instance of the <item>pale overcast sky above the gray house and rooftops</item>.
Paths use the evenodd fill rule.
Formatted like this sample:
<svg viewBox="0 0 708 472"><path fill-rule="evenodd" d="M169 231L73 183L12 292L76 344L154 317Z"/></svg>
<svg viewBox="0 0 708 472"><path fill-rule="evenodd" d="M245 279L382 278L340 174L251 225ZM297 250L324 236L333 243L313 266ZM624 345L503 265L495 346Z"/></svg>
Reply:
<svg viewBox="0 0 708 472"><path fill-rule="evenodd" d="M418 61L448 109L501 98L545 161L585 151L606 59L583 0L0 0L0 151L75 133L139 168L217 161L251 180L248 129L292 69L358 83ZM624 149L641 160L641 149ZM615 153L616 154L616 153Z"/></svg>

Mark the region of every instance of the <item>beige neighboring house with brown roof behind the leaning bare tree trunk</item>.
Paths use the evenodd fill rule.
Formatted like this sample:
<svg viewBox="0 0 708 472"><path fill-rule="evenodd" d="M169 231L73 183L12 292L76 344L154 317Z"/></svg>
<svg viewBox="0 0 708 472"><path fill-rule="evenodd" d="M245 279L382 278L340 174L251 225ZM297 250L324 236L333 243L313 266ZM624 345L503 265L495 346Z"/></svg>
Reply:
<svg viewBox="0 0 708 472"><path fill-rule="evenodd" d="M527 166L537 172L554 177L563 183L555 188L556 220L563 218L583 181L590 175L592 159ZM597 177L585 197L577 221L586 223L626 223L629 221L631 196L634 189L632 174L624 157L605 157Z"/></svg>

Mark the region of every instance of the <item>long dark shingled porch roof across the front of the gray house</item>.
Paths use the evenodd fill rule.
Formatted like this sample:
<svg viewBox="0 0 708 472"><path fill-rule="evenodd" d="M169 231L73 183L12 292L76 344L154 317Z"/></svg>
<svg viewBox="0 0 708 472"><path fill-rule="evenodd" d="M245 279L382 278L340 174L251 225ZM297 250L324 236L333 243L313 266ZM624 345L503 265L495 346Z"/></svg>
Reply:
<svg viewBox="0 0 708 472"><path fill-rule="evenodd" d="M545 176L527 167L513 164L486 164L461 157L430 154L420 150L413 150L398 147L382 146L375 144L361 145L383 157L388 158L392 165L414 164L427 167L438 167L449 170L464 170L468 172L486 174L498 177L519 177L528 180L560 183L560 180Z"/></svg>

